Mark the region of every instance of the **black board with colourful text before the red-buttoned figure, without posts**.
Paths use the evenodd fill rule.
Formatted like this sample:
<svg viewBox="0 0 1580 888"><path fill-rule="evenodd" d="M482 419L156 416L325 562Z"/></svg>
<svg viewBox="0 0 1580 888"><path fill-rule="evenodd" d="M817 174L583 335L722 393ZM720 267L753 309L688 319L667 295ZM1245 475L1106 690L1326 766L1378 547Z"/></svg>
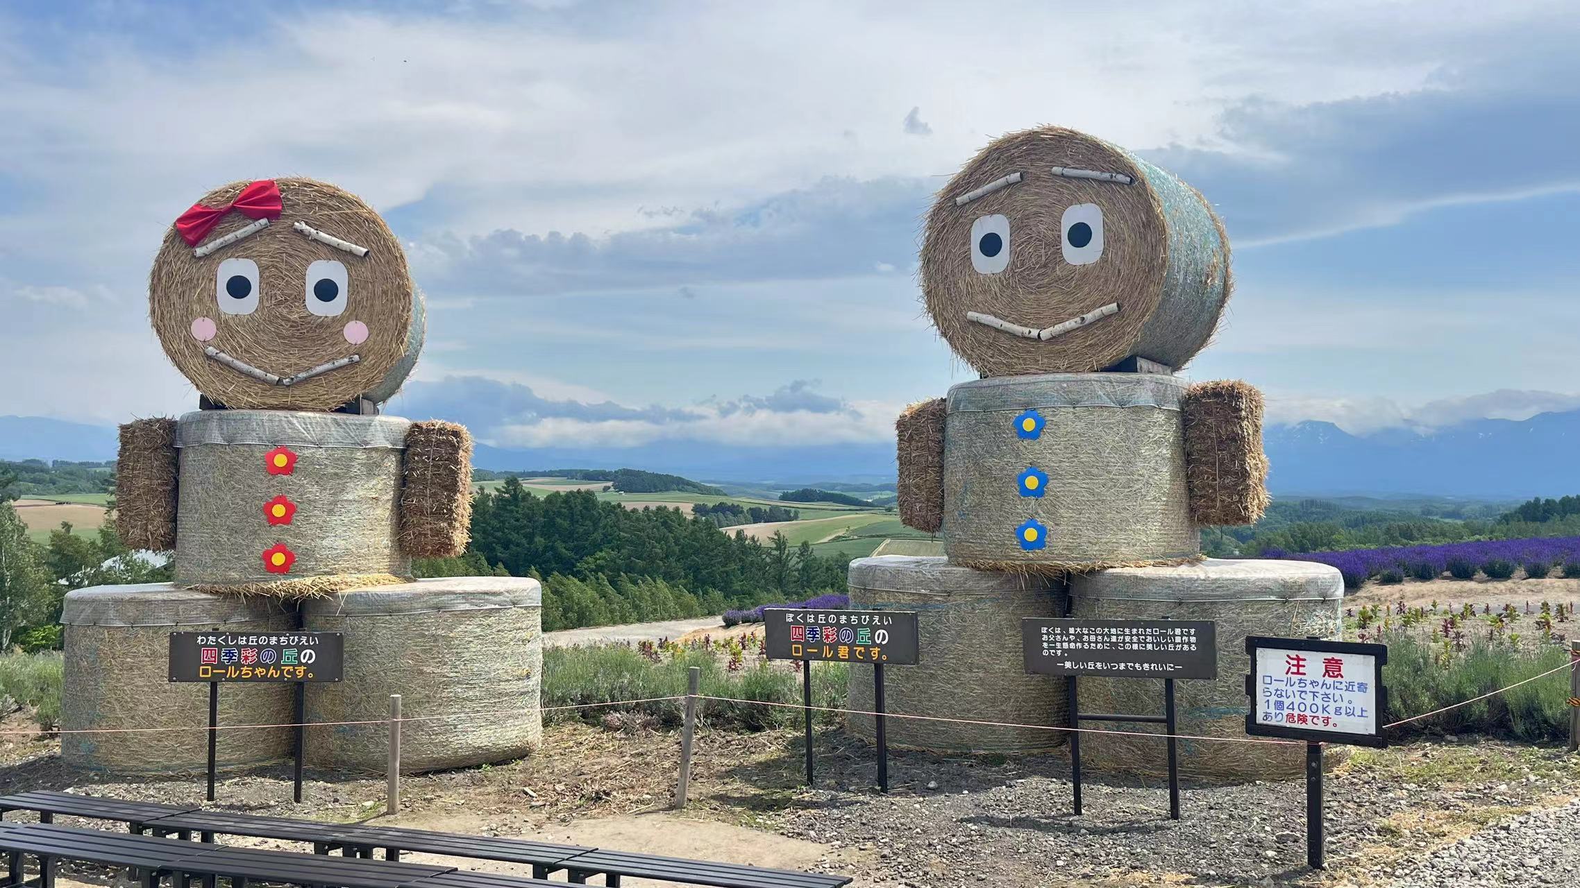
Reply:
<svg viewBox="0 0 1580 888"><path fill-rule="evenodd" d="M171 632L171 681L340 681L340 632Z"/></svg>

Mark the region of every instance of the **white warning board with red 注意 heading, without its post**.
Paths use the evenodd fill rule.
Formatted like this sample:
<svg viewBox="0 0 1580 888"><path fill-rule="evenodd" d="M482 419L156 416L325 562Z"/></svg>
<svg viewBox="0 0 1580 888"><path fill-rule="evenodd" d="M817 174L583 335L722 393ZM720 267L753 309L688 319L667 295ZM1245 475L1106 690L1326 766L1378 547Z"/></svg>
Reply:
<svg viewBox="0 0 1580 888"><path fill-rule="evenodd" d="M1251 654L1245 733L1386 746L1382 664L1387 645L1310 638L1245 640Z"/></svg>

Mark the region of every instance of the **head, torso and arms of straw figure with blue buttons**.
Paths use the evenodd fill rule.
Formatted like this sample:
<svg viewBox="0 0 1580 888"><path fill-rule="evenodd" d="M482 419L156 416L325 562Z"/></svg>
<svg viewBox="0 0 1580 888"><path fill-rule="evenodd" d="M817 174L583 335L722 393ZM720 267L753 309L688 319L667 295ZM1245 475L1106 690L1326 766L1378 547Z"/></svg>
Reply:
<svg viewBox="0 0 1580 888"><path fill-rule="evenodd" d="M1180 564L1199 526L1261 517L1261 395L1172 374L1231 289L1196 190L1073 130L1005 136L934 204L921 284L983 374L897 423L901 517L942 531L953 564Z"/></svg>

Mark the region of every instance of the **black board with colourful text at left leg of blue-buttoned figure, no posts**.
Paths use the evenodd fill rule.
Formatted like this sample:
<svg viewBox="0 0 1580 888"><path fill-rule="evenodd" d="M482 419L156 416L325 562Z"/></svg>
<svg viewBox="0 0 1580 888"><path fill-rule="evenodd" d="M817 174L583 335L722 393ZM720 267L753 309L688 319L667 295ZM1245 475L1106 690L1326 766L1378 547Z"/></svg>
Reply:
<svg viewBox="0 0 1580 888"><path fill-rule="evenodd" d="M897 610L766 608L763 640L773 660L915 665L916 615Z"/></svg>

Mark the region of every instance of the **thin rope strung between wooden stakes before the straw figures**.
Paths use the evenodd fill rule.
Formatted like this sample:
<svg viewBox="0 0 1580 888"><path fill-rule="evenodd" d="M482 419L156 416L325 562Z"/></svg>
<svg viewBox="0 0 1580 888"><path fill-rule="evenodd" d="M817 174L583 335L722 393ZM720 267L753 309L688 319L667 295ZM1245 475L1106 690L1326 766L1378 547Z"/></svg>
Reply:
<svg viewBox="0 0 1580 888"><path fill-rule="evenodd" d="M1405 724L1411 724L1411 722L1419 722L1422 719L1430 719L1431 716L1439 716L1443 713L1449 713L1449 711L1458 709L1462 706L1469 706L1471 703L1479 703L1479 702L1487 700L1490 697L1496 697L1499 694L1506 694L1509 690L1514 690L1515 687L1529 684L1533 681L1547 678L1550 675L1555 675L1555 673L1559 673L1559 672L1564 672L1564 670L1571 670L1571 672L1580 670L1580 659L1572 659L1571 662L1567 662L1564 665L1550 668L1550 670L1547 670L1547 672L1544 672L1540 675L1533 675L1531 678L1526 678L1523 681L1517 681L1517 683L1514 683L1514 684L1510 684L1507 687L1499 687L1496 690L1488 690L1487 694L1482 694L1479 697L1471 697L1469 700L1462 700L1458 703L1452 703L1449 706L1443 706L1443 708L1433 709L1430 713L1422 713L1419 716L1411 716L1408 719L1400 719L1397 722L1390 722L1387 725L1382 725L1382 730L1395 728L1395 727L1400 727L1400 725L1405 725ZM841 714L847 714L847 716L885 716L885 717L890 717L890 719L913 719L913 721L948 722L948 724L961 724L961 725L983 725L983 727L1003 727L1003 728L1051 730L1051 732L1066 732L1066 733L1103 733L1103 735L1120 735L1120 736L1150 736L1150 738L1158 738L1158 739L1174 738L1174 739L1194 739L1194 741L1207 741L1207 743L1266 743L1266 744L1275 744L1275 746L1304 746L1305 744L1305 741L1296 741L1296 739L1270 739L1270 738L1253 738L1253 736L1202 736L1202 735L1188 735L1188 733L1174 733L1174 735L1169 735L1169 733L1152 733L1152 732L1081 728L1081 727L1063 727L1063 725L1027 725L1027 724L1016 724L1016 722L997 722L997 721L984 721L984 719L961 719L961 717L948 717L948 716L912 716L912 714L904 714L904 713L875 713L875 711L871 711L871 709L848 709L848 708L842 708L842 706L806 706L803 703L779 703L779 702L774 702L774 700L747 700L747 698L741 698L741 697L713 697L713 695L706 695L706 694L697 694L697 695L673 694L673 695L668 695L668 697L641 697L641 698L635 698L635 700L607 700L607 702L599 702L599 703L567 703L567 705L559 705L559 706L544 706L542 711L544 713L558 713L558 711L569 711L569 709L596 709L596 708L607 708L607 706L634 706L634 705L638 705L638 703L667 703L667 702L687 700L690 697L695 697L697 700L713 700L716 703L735 703L735 705L747 705L747 706L774 706L774 708L785 708L785 709L812 709L812 711L818 711L818 713L841 713ZM477 711L477 713L446 713L442 716L403 716L403 717L398 717L398 719L384 717L384 719L367 719L367 721L354 721L354 722L281 722L281 724L265 724L265 725L216 725L213 728L210 728L209 725L191 725L191 727L179 725L179 727L156 727L156 728L79 728L79 730L58 730L57 728L57 730L40 730L40 732L0 730L0 736L46 736L46 738L58 738L58 736L65 736L65 735L82 735L82 733L169 733L169 732L204 732L204 733L207 733L210 730L221 732L221 730L261 730L261 728L294 728L294 727L313 728L313 727L348 727L348 725L389 725L389 724L395 724L395 722L400 722L400 724L406 724L406 722L430 722L430 721L468 719L468 717L493 716L493 714L496 714L495 709Z"/></svg>

